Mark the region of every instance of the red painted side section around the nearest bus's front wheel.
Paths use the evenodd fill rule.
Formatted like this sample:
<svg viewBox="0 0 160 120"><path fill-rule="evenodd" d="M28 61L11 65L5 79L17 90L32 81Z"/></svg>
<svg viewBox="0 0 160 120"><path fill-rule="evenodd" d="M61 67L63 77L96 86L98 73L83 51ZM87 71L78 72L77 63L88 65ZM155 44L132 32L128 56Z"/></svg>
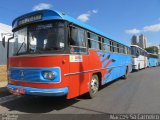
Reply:
<svg viewBox="0 0 160 120"><path fill-rule="evenodd" d="M89 50L89 55L83 55L83 62L70 62L69 94L67 98L73 98L89 91L89 82L94 73L100 72L102 75L106 70L102 70L100 54L97 51Z"/></svg>

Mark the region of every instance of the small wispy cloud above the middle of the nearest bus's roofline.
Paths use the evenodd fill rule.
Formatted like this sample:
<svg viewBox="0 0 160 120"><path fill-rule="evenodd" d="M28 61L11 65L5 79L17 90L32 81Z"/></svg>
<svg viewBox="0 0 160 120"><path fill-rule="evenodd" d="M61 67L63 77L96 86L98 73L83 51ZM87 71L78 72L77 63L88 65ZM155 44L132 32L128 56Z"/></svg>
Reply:
<svg viewBox="0 0 160 120"><path fill-rule="evenodd" d="M83 14L79 15L77 17L77 19L82 21L82 22L87 22L89 20L90 16L92 14L96 14L96 13L98 13L98 10L87 11L86 13L83 13Z"/></svg>

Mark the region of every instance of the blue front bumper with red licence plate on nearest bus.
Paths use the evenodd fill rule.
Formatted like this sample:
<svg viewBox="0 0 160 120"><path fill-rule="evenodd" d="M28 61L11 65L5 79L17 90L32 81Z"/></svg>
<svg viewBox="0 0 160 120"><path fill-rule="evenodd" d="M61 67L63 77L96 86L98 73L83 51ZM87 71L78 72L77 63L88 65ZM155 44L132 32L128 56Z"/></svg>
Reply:
<svg viewBox="0 0 160 120"><path fill-rule="evenodd" d="M37 96L63 96L68 93L68 87L64 88L32 88L8 84L7 88L17 95L37 95Z"/></svg>

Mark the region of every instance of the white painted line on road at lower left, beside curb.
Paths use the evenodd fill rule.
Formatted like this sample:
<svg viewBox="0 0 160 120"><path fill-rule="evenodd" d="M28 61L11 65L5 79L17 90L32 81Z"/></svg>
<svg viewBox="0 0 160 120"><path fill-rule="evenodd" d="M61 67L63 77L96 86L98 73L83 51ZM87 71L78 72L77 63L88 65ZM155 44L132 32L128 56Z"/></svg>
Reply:
<svg viewBox="0 0 160 120"><path fill-rule="evenodd" d="M18 96L18 95L9 95L9 96L5 96L5 97L1 97L0 98L0 104L18 99L20 97L21 96Z"/></svg>

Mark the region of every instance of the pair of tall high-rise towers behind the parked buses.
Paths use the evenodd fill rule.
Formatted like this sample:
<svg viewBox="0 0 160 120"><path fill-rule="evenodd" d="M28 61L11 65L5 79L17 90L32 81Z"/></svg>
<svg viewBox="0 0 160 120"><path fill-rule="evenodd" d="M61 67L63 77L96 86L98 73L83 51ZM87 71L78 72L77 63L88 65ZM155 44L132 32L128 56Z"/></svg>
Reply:
<svg viewBox="0 0 160 120"><path fill-rule="evenodd" d="M132 45L138 45L141 48L147 48L147 38L141 34L139 37L136 35L133 35L131 38L131 44Z"/></svg>

